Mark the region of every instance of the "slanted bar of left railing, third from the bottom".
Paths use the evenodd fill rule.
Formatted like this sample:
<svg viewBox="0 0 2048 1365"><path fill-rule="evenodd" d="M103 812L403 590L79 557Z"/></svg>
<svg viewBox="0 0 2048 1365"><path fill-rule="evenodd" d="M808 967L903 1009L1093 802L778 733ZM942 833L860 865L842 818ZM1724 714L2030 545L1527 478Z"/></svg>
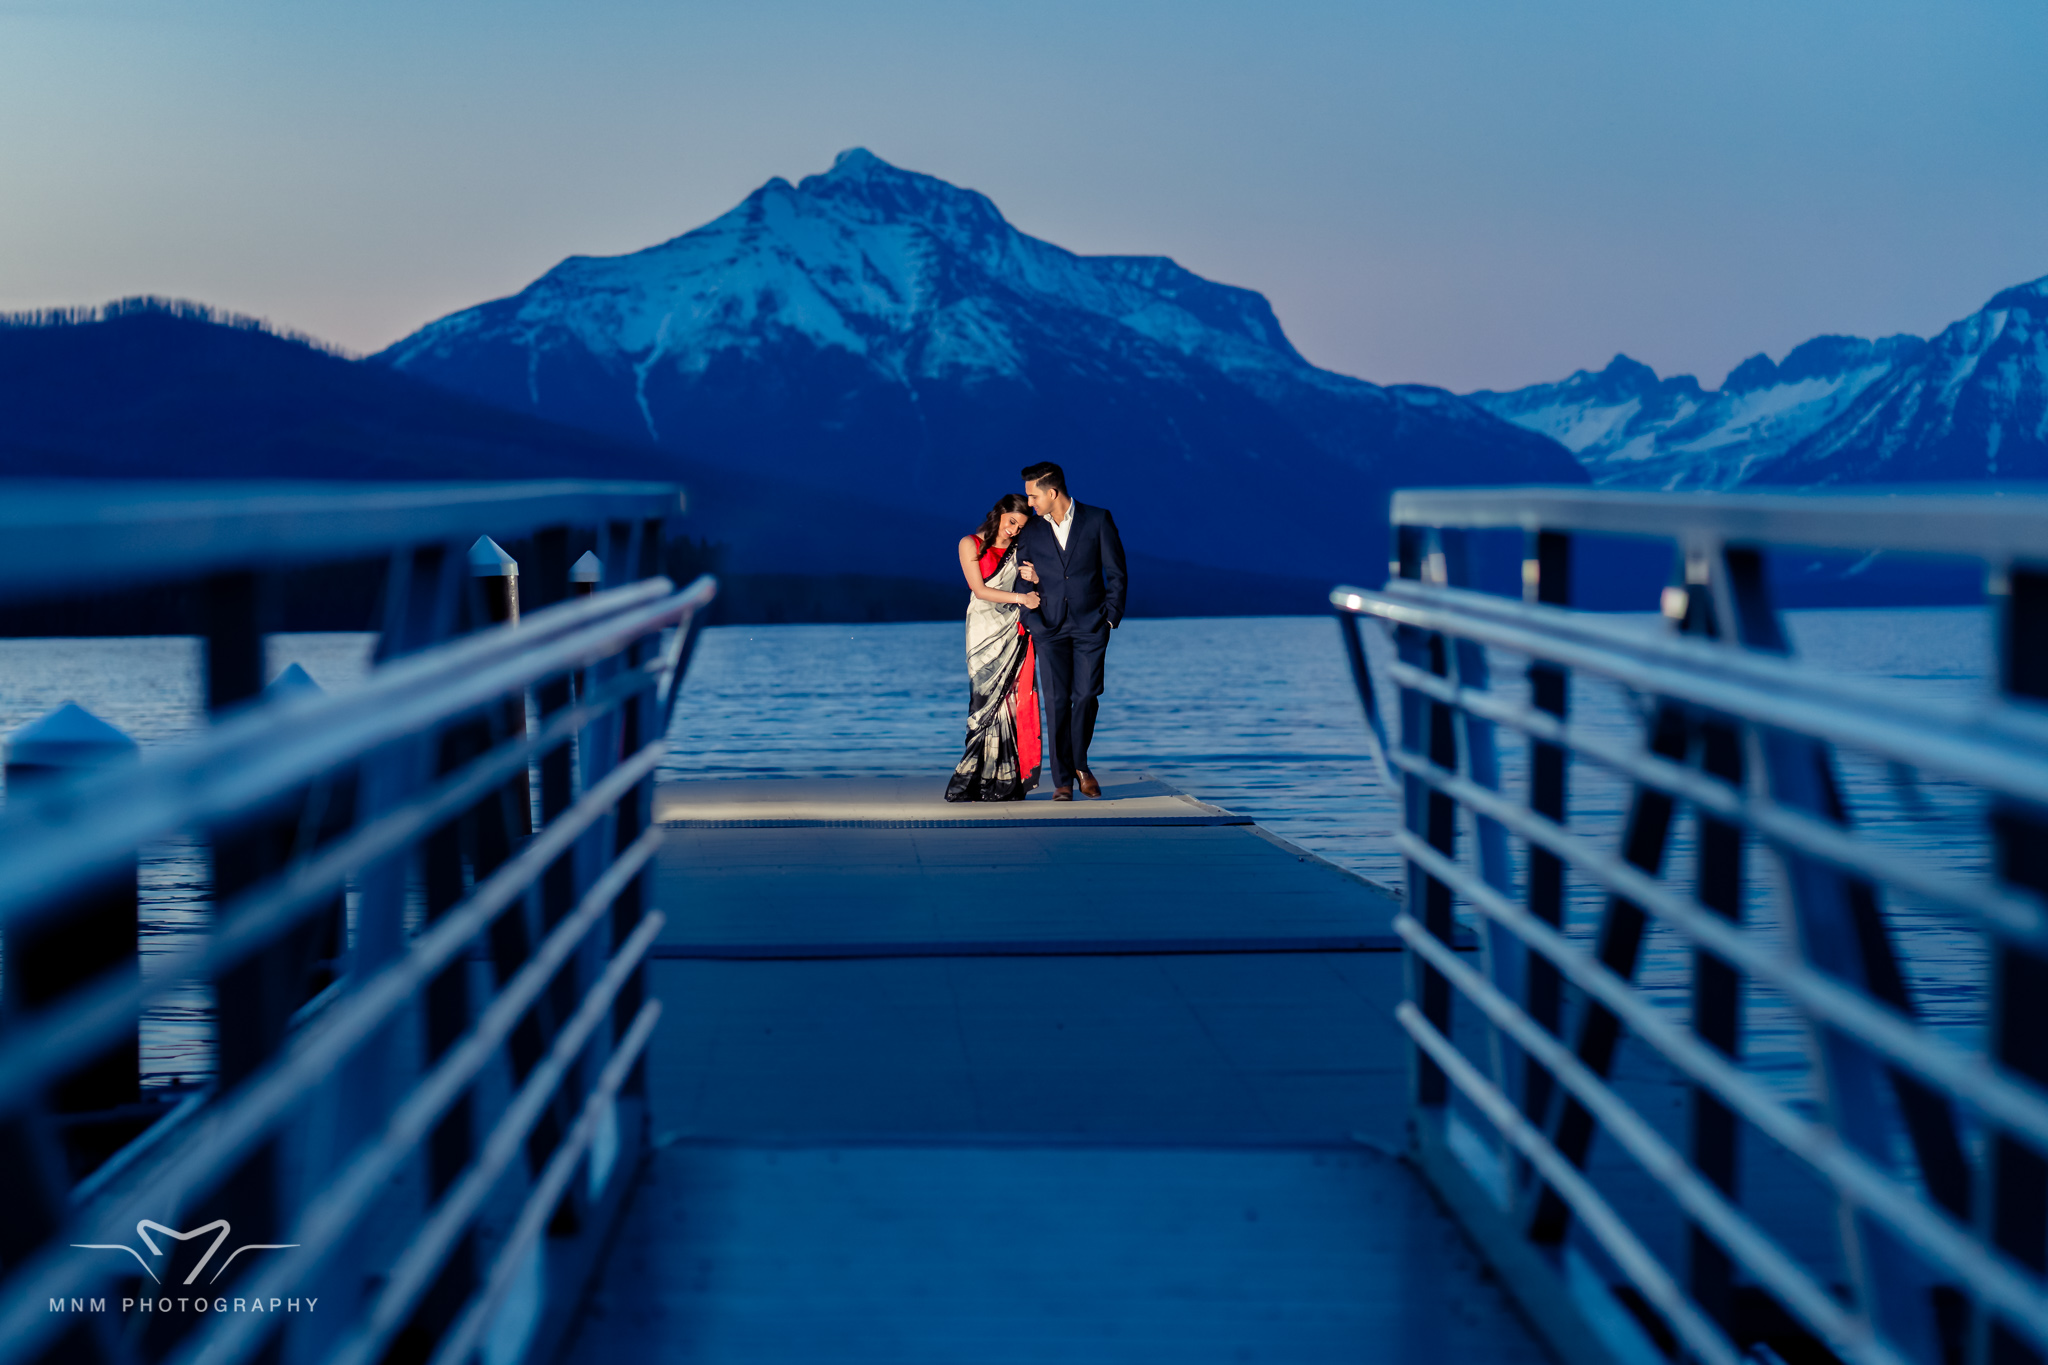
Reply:
<svg viewBox="0 0 2048 1365"><path fill-rule="evenodd" d="M618 862L592 882L575 909L549 931L532 958L520 966L512 980L477 1015L469 1031L399 1101L391 1117L385 1119L377 1140L350 1156L348 1164L299 1214L287 1236L295 1244L305 1246L307 1257L295 1257L266 1271L250 1285L250 1295L272 1297L272 1293L283 1293L287 1281L311 1275L330 1252L340 1250L348 1230L373 1207L377 1187L391 1179L420 1142L432 1134L440 1115L463 1095L477 1072L489 1064L492 1056L512 1036L512 1029L518 1027L518 1021L532 1003L541 999L555 972L582 945L584 937L602 923L618 892L639 876L639 870L647 866L647 860L659 847L662 831L649 829L618 855ZM250 1320L215 1328L201 1342L205 1353L199 1359L240 1359L242 1351L256 1345L256 1336L260 1336L258 1326L250 1324Z"/></svg>

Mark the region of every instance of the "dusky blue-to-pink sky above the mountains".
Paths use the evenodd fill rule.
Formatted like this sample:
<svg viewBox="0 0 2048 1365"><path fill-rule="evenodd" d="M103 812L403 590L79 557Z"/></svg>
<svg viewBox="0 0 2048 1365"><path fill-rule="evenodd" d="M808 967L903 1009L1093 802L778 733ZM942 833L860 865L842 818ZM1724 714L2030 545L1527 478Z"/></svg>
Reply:
<svg viewBox="0 0 2048 1365"><path fill-rule="evenodd" d="M1380 383L1720 381L2048 274L2048 0L0 0L0 309L356 350L866 145Z"/></svg>

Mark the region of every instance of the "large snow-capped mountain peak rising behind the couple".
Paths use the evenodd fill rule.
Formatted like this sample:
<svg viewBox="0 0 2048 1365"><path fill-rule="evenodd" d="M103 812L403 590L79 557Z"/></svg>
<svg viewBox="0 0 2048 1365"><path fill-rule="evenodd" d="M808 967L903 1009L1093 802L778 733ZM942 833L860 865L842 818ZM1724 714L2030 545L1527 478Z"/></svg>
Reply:
<svg viewBox="0 0 2048 1365"><path fill-rule="evenodd" d="M1126 540L1274 573L1370 567L1389 487L1585 479L1442 389L1315 368L1253 291L1075 256L864 149L662 246L569 258L377 360L965 528L1055 458ZM858 534L809 530L793 561Z"/></svg>

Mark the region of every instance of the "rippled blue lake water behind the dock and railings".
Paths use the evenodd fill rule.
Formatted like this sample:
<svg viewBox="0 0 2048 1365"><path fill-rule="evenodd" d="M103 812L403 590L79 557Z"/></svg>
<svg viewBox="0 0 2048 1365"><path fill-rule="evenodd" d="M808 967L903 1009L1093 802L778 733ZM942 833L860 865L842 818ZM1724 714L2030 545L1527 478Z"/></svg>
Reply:
<svg viewBox="0 0 2048 1365"><path fill-rule="evenodd" d="M1642 620L1655 628L1655 618ZM1794 612L1798 651L1829 671L1884 679L1907 696L1987 696L1991 626L1982 610ZM328 688L367 671L373 636L272 636L270 671L287 663ZM188 639L0 641L0 735L63 700L129 731L145 749L188 739L203 724L199 649ZM1520 686L1513 659L1495 659L1497 684ZM872 626L725 626L705 634L678 702L664 780L928 776L934 792L961 751L967 679L954 622ZM1573 714L1589 726L1640 733L1640 700L1577 684ZM1509 786L1522 747L1503 745ZM1397 808L1378 786L1337 626L1327 618L1133 620L1114 636L1092 765L1143 769L1202 800L1389 886ZM1909 780L1843 755L1858 823L1874 839L1937 866L1980 874L1976 796ZM1575 767L1571 819L1614 827L1626 786ZM1757 872L1767 872L1767 860ZM1669 876L1688 878L1690 833L1675 839ZM145 851L143 907L152 956L205 925L205 860L190 845ZM1753 876L1749 921L1778 933L1772 882ZM1599 911L1575 888L1571 927L1589 933ZM1982 1003L1974 931L1919 907L1894 907L1923 1009L1968 1036ZM1653 997L1683 999L1690 956L1655 937L1645 962ZM152 1083L203 1076L211 1046L201 990L158 1009L145 1027ZM1745 1062L1788 1093L1804 1093L1804 1042L1788 1011L1751 993Z"/></svg>

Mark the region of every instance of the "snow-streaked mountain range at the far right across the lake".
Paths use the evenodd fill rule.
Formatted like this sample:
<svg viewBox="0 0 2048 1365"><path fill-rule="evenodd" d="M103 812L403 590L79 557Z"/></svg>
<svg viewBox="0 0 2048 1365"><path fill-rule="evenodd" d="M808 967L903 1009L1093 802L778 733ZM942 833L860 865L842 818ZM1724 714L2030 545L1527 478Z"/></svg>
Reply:
<svg viewBox="0 0 2048 1365"><path fill-rule="evenodd" d="M1595 483L1655 489L2048 477L2048 278L1933 340L1821 336L1720 389L1616 356L1554 385L1470 393L1563 442Z"/></svg>

